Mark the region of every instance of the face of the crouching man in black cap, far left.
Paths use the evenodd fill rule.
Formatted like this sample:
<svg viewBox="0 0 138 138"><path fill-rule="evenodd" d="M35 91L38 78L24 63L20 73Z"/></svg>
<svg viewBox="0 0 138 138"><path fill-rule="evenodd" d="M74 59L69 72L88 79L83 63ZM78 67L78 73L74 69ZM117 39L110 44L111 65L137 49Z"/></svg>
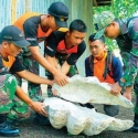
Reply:
<svg viewBox="0 0 138 138"><path fill-rule="evenodd" d="M17 56L22 51L22 49L17 46L14 43L9 44L8 42L3 42L3 47L7 55L12 55L12 56Z"/></svg>

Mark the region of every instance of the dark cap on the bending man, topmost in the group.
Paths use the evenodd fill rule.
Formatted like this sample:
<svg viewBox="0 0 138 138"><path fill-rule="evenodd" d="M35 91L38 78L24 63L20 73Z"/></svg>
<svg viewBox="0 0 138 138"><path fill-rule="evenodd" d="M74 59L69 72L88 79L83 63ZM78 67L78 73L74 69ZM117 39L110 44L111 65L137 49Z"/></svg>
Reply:
<svg viewBox="0 0 138 138"><path fill-rule="evenodd" d="M47 9L47 12L54 17L56 24L60 28L67 26L68 8L63 2L54 2Z"/></svg>

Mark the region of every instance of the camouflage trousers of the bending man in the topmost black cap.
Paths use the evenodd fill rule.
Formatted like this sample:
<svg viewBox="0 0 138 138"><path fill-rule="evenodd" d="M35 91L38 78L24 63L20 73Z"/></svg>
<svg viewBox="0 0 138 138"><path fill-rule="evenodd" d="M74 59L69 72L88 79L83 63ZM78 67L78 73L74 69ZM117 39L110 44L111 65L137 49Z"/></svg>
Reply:
<svg viewBox="0 0 138 138"><path fill-rule="evenodd" d="M30 56L23 56L19 55L19 59L23 66L25 67L26 71L34 73L39 75L39 63L30 55ZM14 76L18 79L18 84L21 86L22 85L22 78L14 74ZM28 82L28 93L29 97L34 100L34 102L42 102L42 89L40 84L34 84L31 82Z"/></svg>

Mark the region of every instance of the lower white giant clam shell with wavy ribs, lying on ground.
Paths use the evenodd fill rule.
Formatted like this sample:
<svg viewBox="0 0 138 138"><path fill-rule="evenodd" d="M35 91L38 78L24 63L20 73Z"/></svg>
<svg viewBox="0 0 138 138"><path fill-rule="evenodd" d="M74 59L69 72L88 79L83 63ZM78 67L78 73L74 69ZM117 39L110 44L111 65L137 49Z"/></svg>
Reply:
<svg viewBox="0 0 138 138"><path fill-rule="evenodd" d="M65 102L57 97L45 98L51 125L60 129L66 126L67 131L72 135L81 132L93 136L103 130L123 131L132 127L131 120L120 120L114 117L82 107L77 104Z"/></svg>

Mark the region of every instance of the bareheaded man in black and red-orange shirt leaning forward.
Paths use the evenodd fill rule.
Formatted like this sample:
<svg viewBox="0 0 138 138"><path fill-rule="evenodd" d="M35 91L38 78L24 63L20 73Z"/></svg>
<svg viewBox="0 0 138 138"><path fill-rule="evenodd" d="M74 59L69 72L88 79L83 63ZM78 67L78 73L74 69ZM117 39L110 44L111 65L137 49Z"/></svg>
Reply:
<svg viewBox="0 0 138 138"><path fill-rule="evenodd" d="M77 73L75 63L86 49L85 35L86 25L79 19L71 22L67 32L54 31L49 36L44 51L49 63L67 76L75 75Z"/></svg>

